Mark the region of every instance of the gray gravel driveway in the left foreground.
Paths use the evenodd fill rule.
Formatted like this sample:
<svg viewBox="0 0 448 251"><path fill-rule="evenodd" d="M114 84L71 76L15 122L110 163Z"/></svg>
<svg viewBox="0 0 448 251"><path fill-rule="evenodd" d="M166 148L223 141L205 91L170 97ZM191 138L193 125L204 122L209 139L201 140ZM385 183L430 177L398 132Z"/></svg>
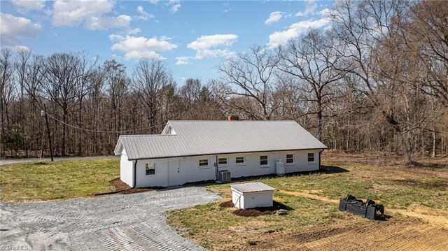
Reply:
<svg viewBox="0 0 448 251"><path fill-rule="evenodd" d="M37 203L0 202L0 250L202 250L165 211L221 199L202 187Z"/></svg>

